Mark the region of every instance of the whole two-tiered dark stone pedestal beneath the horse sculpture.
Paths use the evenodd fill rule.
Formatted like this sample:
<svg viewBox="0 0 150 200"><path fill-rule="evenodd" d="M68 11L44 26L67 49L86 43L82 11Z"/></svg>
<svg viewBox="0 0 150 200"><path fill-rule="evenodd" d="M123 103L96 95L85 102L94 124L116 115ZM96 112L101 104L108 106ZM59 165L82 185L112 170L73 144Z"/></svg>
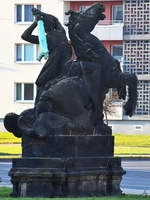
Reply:
<svg viewBox="0 0 150 200"><path fill-rule="evenodd" d="M23 144L23 157L13 159L12 196L120 195L124 171L120 158L113 157L113 146L112 136L32 139L28 147Z"/></svg>

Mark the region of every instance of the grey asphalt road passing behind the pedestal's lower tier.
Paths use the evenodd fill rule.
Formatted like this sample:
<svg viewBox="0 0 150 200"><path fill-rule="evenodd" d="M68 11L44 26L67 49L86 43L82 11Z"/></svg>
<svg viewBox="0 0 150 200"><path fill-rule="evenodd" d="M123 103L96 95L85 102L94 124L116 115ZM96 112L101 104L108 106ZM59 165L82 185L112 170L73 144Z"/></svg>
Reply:
<svg viewBox="0 0 150 200"><path fill-rule="evenodd" d="M150 161L122 161L126 174L121 181L121 189L126 194L150 194ZM12 187L8 171L11 162L0 162L0 186Z"/></svg>

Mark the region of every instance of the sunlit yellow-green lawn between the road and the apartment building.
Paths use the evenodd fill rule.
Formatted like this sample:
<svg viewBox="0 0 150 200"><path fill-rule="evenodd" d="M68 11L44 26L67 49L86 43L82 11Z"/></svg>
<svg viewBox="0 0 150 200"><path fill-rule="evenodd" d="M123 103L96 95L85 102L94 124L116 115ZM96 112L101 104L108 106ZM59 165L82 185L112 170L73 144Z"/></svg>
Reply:
<svg viewBox="0 0 150 200"><path fill-rule="evenodd" d="M115 156L150 157L150 135L113 135ZM0 158L9 158L12 155L14 158L15 154L21 156L21 138L11 133L0 133Z"/></svg>

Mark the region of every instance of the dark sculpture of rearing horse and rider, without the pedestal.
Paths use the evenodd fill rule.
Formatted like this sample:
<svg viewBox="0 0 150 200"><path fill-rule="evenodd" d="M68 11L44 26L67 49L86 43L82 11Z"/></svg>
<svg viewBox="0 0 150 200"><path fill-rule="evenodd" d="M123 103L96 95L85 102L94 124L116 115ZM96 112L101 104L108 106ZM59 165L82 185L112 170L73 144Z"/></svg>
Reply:
<svg viewBox="0 0 150 200"><path fill-rule="evenodd" d="M121 72L120 63L91 34L105 7L94 4L83 13L68 11L67 24L71 43L77 55L72 60L71 46L64 28L52 15L33 9L35 22L22 34L22 39L39 44L32 35L37 21L43 20L49 57L37 80L34 109L20 115L8 114L4 124L17 137L21 133L37 137L55 134L111 134L103 122L103 101L109 88L117 88L125 99L128 85L126 115L132 116L137 100L137 78ZM12 126L13 121L13 126ZM11 127L10 127L11 126Z"/></svg>

